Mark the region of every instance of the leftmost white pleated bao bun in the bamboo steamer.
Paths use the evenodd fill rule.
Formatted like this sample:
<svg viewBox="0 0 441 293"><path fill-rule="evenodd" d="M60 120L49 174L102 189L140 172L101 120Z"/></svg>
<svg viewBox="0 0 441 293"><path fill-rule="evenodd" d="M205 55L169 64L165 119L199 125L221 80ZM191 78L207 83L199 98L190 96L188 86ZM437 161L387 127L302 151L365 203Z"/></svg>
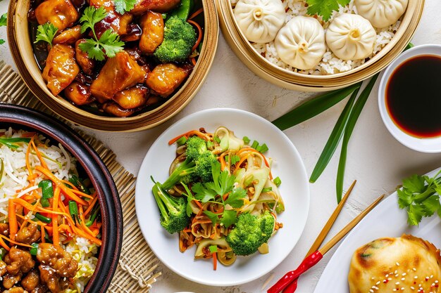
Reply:
<svg viewBox="0 0 441 293"><path fill-rule="evenodd" d="M269 43L285 23L285 8L280 0L239 0L237 25L248 41Z"/></svg>

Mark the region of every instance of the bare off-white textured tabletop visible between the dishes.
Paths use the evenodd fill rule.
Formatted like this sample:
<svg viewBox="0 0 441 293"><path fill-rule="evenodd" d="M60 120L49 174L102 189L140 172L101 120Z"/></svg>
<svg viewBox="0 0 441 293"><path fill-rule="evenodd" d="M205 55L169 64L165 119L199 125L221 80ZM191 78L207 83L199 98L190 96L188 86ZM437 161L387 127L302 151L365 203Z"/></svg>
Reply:
<svg viewBox="0 0 441 293"><path fill-rule="evenodd" d="M7 11L7 5L8 1L0 2L0 13ZM440 0L426 0L426 8L421 24L412 41L415 45L441 44L440 11ZM0 37L6 38L4 27L0 28ZM0 58L13 65L7 44L0 45ZM13 67L15 66L13 65ZM358 183L339 219L337 219L333 230L331 230L331 236L378 195L391 193L405 176L414 173L423 174L441 166L441 154L427 155L409 150L395 141L395 138L389 134L378 112L377 91L378 82L359 118L349 143L344 185L347 187L354 179L357 179ZM280 89L256 77L232 53L225 39L220 35L216 58L204 86L187 108L182 110L176 117L155 129L133 134L89 132L92 132L116 152L118 160L126 169L137 174L142 159L151 143L170 124L185 117L185 115L208 108L239 108L254 112L271 121L280 117L288 109L294 108L295 105L309 98L309 96L309 93ZM344 104L340 103L340 105L336 105L318 117L285 131L285 134L290 137L302 155L308 174L311 174L343 107ZM161 267L163 275L154 284L151 293L177 291L196 293L264 292L262 285L271 274L274 275L273 280L278 280L286 271L297 267L335 208L335 176L339 153L340 150L336 152L321 178L316 183L311 184L311 207L302 238L290 256L273 272L242 286L207 287L187 281L168 270L168 268ZM289 180L289 178L284 178L284 180ZM297 292L313 292L332 252L301 278Z"/></svg>

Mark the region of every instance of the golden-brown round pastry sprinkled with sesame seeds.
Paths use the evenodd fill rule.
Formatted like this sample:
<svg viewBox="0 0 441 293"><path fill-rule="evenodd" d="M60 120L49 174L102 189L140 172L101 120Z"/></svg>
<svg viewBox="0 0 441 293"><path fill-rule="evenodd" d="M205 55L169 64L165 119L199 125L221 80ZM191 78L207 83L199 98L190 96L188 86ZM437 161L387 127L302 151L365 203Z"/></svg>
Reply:
<svg viewBox="0 0 441 293"><path fill-rule="evenodd" d="M352 256L348 281L351 293L441 292L440 250L412 235L380 238Z"/></svg>

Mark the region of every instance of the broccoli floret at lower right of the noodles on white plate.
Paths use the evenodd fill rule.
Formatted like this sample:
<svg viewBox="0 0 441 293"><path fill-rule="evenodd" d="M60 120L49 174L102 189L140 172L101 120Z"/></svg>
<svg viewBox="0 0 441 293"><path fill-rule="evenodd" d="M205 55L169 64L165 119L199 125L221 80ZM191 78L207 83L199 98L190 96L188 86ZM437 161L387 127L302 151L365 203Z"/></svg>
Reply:
<svg viewBox="0 0 441 293"><path fill-rule="evenodd" d="M235 227L227 236L228 245L237 255L254 254L257 249L268 242L274 230L274 217L269 211L254 216L249 213L237 217Z"/></svg>

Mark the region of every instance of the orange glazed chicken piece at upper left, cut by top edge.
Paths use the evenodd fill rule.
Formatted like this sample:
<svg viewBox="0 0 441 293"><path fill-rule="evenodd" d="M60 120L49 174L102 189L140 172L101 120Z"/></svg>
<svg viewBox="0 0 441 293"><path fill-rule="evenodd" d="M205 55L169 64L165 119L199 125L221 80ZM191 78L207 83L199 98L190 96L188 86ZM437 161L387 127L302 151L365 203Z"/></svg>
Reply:
<svg viewBox="0 0 441 293"><path fill-rule="evenodd" d="M35 8L39 25L51 22L58 30L64 30L80 18L75 6L69 0L46 0Z"/></svg>

